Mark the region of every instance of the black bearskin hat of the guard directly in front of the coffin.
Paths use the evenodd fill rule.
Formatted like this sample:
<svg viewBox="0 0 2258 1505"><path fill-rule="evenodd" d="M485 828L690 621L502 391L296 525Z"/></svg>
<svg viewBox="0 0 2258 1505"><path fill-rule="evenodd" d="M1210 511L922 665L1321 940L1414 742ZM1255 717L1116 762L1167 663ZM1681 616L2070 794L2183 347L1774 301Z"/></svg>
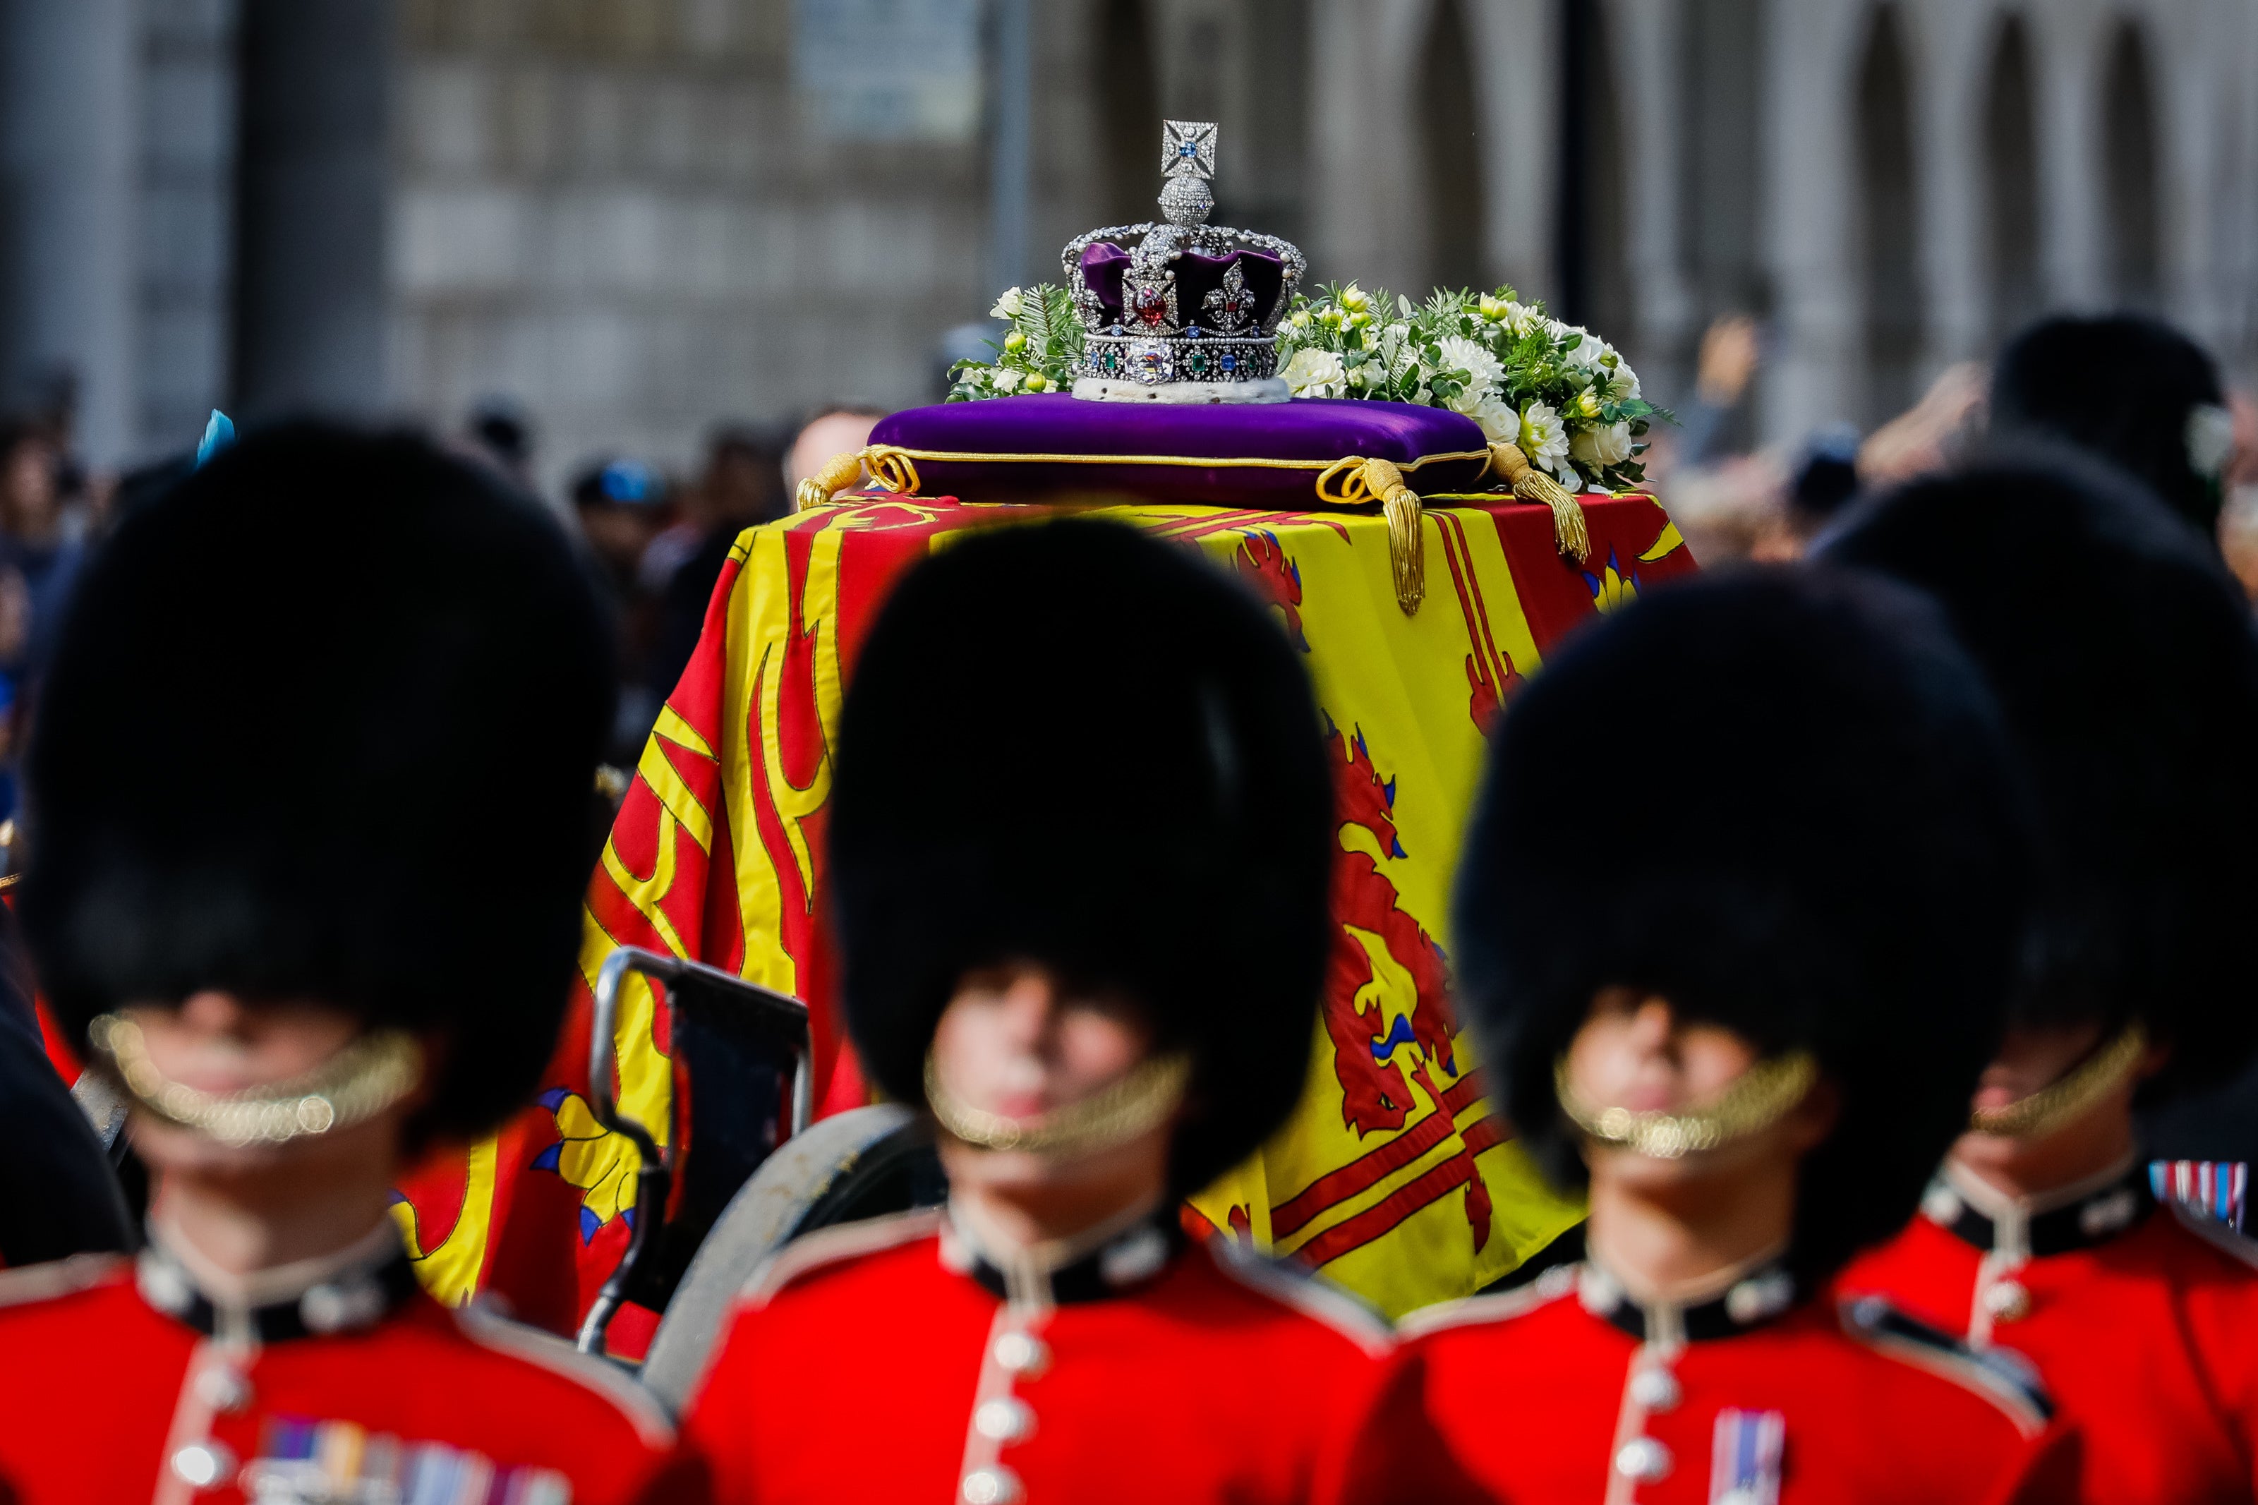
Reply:
<svg viewBox="0 0 2258 1505"><path fill-rule="evenodd" d="M1222 571L1129 528L998 528L919 564L840 720L831 878L847 1024L924 1101L978 966L1118 988L1192 1081L1188 1194L1285 1124L1328 945L1332 792L1310 681Z"/></svg>

